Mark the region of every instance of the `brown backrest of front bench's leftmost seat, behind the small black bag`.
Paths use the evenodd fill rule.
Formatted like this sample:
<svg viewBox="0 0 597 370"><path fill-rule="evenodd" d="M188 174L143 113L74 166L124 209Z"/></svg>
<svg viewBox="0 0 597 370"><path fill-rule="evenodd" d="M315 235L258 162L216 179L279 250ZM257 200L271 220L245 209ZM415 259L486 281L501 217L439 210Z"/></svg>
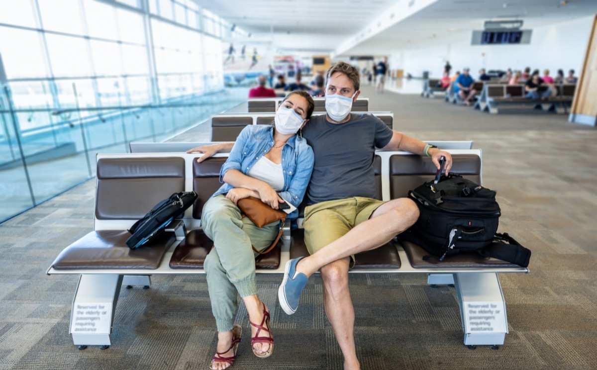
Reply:
<svg viewBox="0 0 597 370"><path fill-rule="evenodd" d="M100 158L96 218L138 220L158 202L183 191L183 158Z"/></svg>

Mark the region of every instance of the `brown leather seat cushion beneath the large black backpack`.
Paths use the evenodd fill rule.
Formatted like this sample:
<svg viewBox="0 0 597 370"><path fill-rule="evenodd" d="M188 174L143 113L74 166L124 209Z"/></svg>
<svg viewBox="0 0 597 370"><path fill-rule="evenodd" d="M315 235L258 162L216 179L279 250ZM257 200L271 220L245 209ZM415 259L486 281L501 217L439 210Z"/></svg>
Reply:
<svg viewBox="0 0 597 370"><path fill-rule="evenodd" d="M517 264L498 260L497 258L483 257L477 252L458 252L448 255L443 261L439 257L429 255L425 249L415 243L401 241L408 260L415 269L445 269L446 267L520 267ZM423 259L423 257L425 259Z"/></svg>

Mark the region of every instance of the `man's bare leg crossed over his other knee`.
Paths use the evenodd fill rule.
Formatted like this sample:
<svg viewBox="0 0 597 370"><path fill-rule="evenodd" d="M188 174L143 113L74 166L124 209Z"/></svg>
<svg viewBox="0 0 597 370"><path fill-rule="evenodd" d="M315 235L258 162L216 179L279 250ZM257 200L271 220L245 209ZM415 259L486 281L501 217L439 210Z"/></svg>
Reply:
<svg viewBox="0 0 597 370"><path fill-rule="evenodd" d="M369 220L319 251L298 261L297 272L307 277L323 266L358 252L375 249L413 225L418 218L417 205L408 198L394 199L379 206ZM371 230L375 230L374 233Z"/></svg>

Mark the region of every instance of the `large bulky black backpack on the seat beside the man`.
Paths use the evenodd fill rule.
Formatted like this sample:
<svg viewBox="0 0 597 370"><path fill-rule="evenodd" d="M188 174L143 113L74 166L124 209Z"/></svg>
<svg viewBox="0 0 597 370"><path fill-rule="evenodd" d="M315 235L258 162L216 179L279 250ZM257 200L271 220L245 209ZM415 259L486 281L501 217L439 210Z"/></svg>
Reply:
<svg viewBox="0 0 597 370"><path fill-rule="evenodd" d="M496 192L457 174L441 176L409 192L418 206L417 222L399 238L416 243L440 261L460 251L477 251L527 267L530 251L506 233Z"/></svg>

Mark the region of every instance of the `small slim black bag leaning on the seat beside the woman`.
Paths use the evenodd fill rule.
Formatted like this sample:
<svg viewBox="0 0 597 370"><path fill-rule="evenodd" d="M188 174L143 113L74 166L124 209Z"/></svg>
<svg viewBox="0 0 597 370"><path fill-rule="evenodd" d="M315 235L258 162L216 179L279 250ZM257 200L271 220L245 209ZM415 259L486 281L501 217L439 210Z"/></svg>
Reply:
<svg viewBox="0 0 597 370"><path fill-rule="evenodd" d="M175 218L179 218L197 199L195 192L174 193L168 199L156 204L141 220L128 229L128 248L135 249L155 238Z"/></svg>

